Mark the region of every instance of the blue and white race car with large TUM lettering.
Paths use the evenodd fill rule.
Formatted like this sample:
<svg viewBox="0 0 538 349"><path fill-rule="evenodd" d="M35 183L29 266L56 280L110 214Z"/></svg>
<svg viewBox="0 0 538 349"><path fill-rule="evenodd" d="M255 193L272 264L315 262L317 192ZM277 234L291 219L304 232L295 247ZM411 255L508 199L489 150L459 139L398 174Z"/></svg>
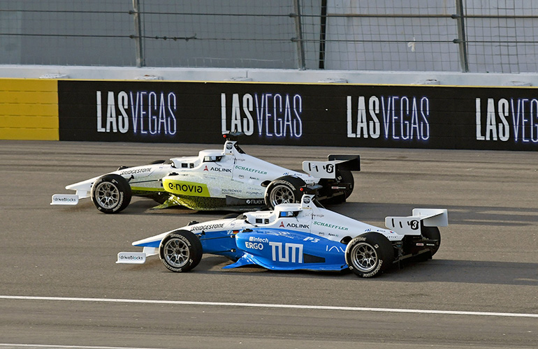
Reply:
<svg viewBox="0 0 538 349"><path fill-rule="evenodd" d="M412 216L386 217L388 229L342 216L304 194L299 203L277 205L189 225L133 242L142 252L120 252L117 263L142 264L159 255L173 272L187 272L203 253L224 255L233 264L273 270L339 271L375 276L393 263L416 257L427 260L439 249L440 226L448 225L446 209L413 209Z"/></svg>

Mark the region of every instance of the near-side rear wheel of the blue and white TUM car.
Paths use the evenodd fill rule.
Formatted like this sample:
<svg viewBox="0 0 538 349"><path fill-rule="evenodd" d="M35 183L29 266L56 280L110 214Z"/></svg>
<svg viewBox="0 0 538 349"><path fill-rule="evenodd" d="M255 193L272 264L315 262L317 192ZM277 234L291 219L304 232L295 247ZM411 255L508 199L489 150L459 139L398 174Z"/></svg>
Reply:
<svg viewBox="0 0 538 349"><path fill-rule="evenodd" d="M391 267L394 251L384 235L367 232L347 244L345 258L351 272L361 278L370 278Z"/></svg>

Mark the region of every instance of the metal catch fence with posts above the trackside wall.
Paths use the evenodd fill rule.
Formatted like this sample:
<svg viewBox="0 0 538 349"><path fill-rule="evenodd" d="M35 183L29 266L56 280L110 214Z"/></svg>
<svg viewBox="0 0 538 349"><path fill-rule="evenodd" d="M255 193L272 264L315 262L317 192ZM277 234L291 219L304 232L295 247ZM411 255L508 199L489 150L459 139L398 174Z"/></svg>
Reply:
<svg viewBox="0 0 538 349"><path fill-rule="evenodd" d="M537 72L535 0L0 0L0 64Z"/></svg>

